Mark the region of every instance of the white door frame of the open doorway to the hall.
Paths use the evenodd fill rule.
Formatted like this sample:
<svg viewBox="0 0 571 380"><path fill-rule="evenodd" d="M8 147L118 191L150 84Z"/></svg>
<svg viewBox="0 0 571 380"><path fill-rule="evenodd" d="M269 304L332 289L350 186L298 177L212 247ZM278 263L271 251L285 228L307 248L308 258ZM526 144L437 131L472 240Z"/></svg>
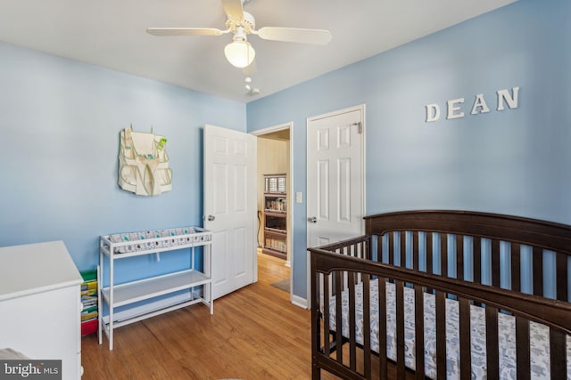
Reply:
<svg viewBox="0 0 571 380"><path fill-rule="evenodd" d="M293 302L293 295L294 295L294 203L295 203L295 194L294 194L294 122L290 121L287 123L279 124L279 125L272 125L267 128L258 129L256 131L252 131L251 133L256 137L261 137L264 134L274 133L278 131L284 131L285 129L289 129L289 178L287 179L287 191L290 198L290 204L287 210L287 249L289 251L289 267L290 267L290 275L289 275L289 297L290 302ZM260 194L256 194L258 197ZM258 210L256 210L257 212ZM257 255L256 255L257 256ZM256 257L256 279L258 276L258 261Z"/></svg>

